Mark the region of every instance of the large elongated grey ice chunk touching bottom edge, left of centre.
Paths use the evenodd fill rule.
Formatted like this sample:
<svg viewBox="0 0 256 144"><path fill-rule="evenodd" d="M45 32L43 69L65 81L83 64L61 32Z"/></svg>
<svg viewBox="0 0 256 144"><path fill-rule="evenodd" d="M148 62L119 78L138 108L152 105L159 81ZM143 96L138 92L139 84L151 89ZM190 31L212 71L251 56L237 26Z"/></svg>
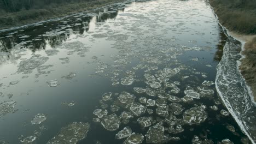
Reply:
<svg viewBox="0 0 256 144"><path fill-rule="evenodd" d="M47 144L77 143L78 141L85 139L89 129L89 123L73 122L68 124L67 127L61 128L60 132L47 142Z"/></svg>

